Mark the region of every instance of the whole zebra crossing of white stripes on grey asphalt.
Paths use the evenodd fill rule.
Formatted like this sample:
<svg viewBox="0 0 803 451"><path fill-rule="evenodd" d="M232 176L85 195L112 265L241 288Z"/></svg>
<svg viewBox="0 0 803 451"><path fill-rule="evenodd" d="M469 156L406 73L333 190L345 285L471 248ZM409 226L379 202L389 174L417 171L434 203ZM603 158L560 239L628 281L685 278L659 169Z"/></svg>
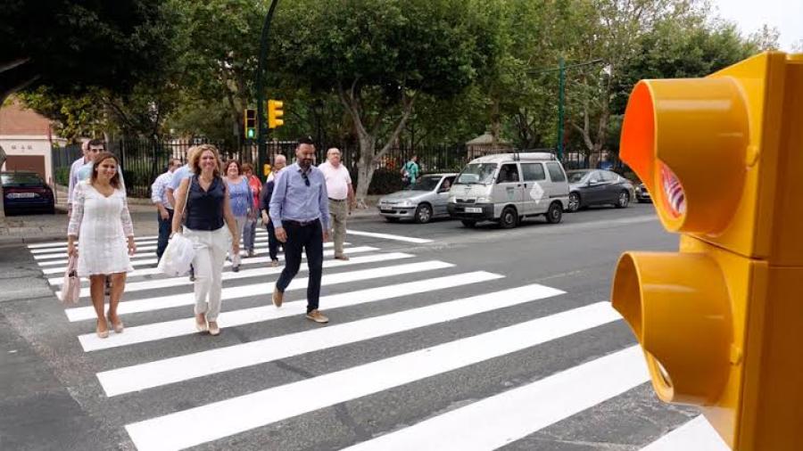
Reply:
<svg viewBox="0 0 803 451"><path fill-rule="evenodd" d="M202 337L195 331L188 278L167 277L153 267L155 237L137 239L135 271L128 275L118 310L126 323L124 332L107 339L96 336L85 281L79 306L64 309L70 330L76 332L68 338L85 359L97 363L92 376L103 403L153 403L153 414L120 418L120 429L134 446L141 451L282 449L271 442L272 434L293 422L426 381L447 381L452 375L457 380L450 386L459 389L457 374L477 365L621 324L621 316L604 299L555 310L556 302L572 294L539 283L509 283L506 275L464 268L446 258L425 258L398 246L429 240L351 230L349 240L350 260L324 260L320 306L332 318L326 326L298 319L306 306L303 264L287 288L285 305L270 304L269 293L282 266L266 265L263 231L258 232L257 257L244 258L238 273L230 271L229 263L224 268L220 337ZM66 243L32 244L29 251L57 293ZM332 255L327 243L325 256ZM488 319L532 306L549 313L500 324ZM347 319L338 321L341 316ZM490 324L470 332L450 327L477 318ZM385 355L383 348L399 337L410 342L396 341L397 348ZM367 349L370 357L361 358L352 348ZM339 357L325 357L330 352ZM332 369L281 381L261 375L262 370L273 374L294 359L326 360L324 366ZM231 386L229 381L243 382ZM560 371L528 375L482 398L462 399L450 408L420 413L325 448L497 449L648 382L642 352L631 342ZM170 399L165 399L168 392ZM417 396L414 391L412 398ZM426 398L426 391L420 397ZM260 433L271 428L279 429ZM665 430L642 449L691 448L727 449L702 417Z"/></svg>

